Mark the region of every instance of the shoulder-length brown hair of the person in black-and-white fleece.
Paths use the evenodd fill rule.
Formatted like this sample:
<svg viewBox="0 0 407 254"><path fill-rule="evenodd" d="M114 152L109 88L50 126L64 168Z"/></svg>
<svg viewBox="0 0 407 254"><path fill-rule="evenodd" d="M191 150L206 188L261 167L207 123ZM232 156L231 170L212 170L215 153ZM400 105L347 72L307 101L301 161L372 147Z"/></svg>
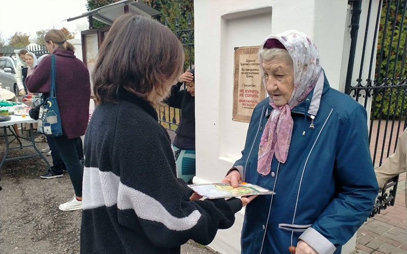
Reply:
<svg viewBox="0 0 407 254"><path fill-rule="evenodd" d="M120 87L159 103L183 70L184 49L159 22L125 14L114 21L98 53L93 74L100 103L117 102Z"/></svg>

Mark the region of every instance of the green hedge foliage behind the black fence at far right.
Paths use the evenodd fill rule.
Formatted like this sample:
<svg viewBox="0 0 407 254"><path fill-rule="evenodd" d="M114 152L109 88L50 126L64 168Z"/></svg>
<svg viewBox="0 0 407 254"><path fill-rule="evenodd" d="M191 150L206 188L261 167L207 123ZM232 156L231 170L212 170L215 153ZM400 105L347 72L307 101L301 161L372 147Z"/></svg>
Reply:
<svg viewBox="0 0 407 254"><path fill-rule="evenodd" d="M393 84L393 75L395 78L394 84L398 84L399 80L407 78L407 55L403 58L404 50L407 50L406 38L407 38L407 15L405 15L404 20L402 17L404 1L399 1L399 6L397 10L398 1L384 1L382 7L382 13L380 17L380 27L379 27L379 37L377 45L377 56L376 56L376 73L375 80L377 84L387 83L387 85ZM388 15L388 21L386 25L386 16ZM407 13L406 13L407 14ZM394 37L392 40L392 31L394 27ZM398 46L398 53L397 53ZM381 60L382 59L382 60ZM401 79L400 79L401 77ZM401 90L401 89L400 89ZM403 90L401 90L403 92ZM374 112L372 111L374 118L380 117L380 108L383 104L382 117L386 117L388 113L393 115L396 112L396 116L399 116L400 111L405 112L407 109L406 103L404 103L401 109L402 98L400 95L396 104L396 93L397 88L388 88L383 94L383 90L377 92L376 97L376 108ZM391 95L391 96L390 96ZM406 96L407 97L407 96ZM405 99L407 100L407 98ZM390 112L388 112L390 104ZM402 117L402 116L401 116Z"/></svg>

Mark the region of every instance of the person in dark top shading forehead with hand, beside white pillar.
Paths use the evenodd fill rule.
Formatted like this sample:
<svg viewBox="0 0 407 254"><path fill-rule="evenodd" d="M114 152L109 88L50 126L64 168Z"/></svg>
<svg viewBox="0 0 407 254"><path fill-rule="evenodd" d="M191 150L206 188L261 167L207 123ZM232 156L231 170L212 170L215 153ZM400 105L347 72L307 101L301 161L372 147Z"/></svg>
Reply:
<svg viewBox="0 0 407 254"><path fill-rule="evenodd" d="M186 89L180 90L185 83ZM180 108L182 116L175 131L172 147L177 160L178 177L191 182L195 175L195 70L191 69L178 77L165 100L170 107Z"/></svg>

